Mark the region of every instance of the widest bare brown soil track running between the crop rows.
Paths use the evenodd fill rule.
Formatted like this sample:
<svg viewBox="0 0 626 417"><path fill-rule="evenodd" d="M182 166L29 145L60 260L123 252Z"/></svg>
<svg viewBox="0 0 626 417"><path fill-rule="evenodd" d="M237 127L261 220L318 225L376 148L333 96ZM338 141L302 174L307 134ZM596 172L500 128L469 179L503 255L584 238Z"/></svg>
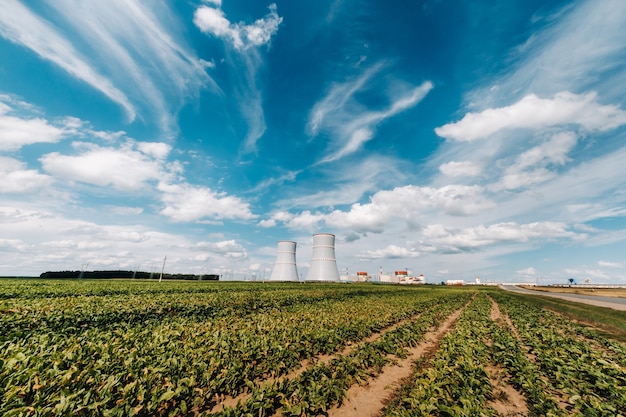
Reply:
<svg viewBox="0 0 626 417"><path fill-rule="evenodd" d="M428 352L436 351L439 342L452 328L461 311L463 308L450 315L438 329L427 332L424 342L408 349L409 354L405 359L398 360L394 365L385 366L367 385L355 385L350 388L343 404L328 410L328 417L379 416L390 397L413 373L413 362Z"/></svg>

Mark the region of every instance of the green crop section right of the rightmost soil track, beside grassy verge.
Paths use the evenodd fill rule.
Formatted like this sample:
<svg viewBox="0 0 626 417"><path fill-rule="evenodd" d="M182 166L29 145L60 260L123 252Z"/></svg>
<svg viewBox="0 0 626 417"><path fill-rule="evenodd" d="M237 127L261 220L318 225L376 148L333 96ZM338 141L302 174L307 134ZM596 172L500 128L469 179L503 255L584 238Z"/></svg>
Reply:
<svg viewBox="0 0 626 417"><path fill-rule="evenodd" d="M626 415L626 348L520 298L494 295L519 331L546 388L585 416Z"/></svg>

